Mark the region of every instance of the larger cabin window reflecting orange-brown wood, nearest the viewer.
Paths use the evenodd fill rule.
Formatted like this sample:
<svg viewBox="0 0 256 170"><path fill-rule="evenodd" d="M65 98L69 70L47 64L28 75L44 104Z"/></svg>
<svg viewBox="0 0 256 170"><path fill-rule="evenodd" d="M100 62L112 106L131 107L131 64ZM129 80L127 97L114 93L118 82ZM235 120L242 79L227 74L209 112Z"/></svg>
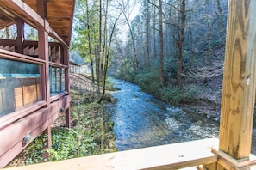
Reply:
<svg viewBox="0 0 256 170"><path fill-rule="evenodd" d="M0 117L41 99L40 64L0 58Z"/></svg>

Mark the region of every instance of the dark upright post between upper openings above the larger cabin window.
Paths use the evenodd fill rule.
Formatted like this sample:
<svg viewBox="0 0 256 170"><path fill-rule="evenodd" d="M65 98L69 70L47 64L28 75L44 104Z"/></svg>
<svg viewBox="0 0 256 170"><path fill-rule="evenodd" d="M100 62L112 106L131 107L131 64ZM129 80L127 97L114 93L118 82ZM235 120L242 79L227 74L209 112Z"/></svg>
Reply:
<svg viewBox="0 0 256 170"><path fill-rule="evenodd" d="M17 37L16 37L16 52L23 53L23 41L24 41L24 21L22 19L16 19Z"/></svg>

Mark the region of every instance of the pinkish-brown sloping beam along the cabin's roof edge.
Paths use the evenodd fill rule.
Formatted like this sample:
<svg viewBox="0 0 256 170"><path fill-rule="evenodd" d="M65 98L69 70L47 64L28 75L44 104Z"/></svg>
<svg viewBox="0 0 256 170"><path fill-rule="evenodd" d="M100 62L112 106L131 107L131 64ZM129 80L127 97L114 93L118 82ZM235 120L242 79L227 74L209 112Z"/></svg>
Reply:
<svg viewBox="0 0 256 170"><path fill-rule="evenodd" d="M46 31L50 34L50 36L52 36L54 39L59 40L59 42L61 42L63 45L68 46L69 43L62 39L59 34L53 30L49 23L41 18L41 16L38 15L34 11L34 9L28 6L28 4L16 0L0 0L0 5L2 5L2 9L4 9L4 6L5 8L7 8L5 10L8 11L10 11L9 9L15 9L11 10L12 13L14 13L13 15L26 21L26 23L28 23L28 25L31 25L32 27L45 27ZM13 24L13 22L8 23L8 25L6 24L6 27L11 24Z"/></svg>

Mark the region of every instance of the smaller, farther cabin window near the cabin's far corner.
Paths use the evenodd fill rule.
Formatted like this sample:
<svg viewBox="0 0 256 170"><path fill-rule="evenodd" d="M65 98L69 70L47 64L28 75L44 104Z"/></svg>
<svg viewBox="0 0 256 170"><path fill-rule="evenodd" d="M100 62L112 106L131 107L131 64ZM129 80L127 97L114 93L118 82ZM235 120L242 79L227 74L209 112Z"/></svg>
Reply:
<svg viewBox="0 0 256 170"><path fill-rule="evenodd" d="M50 66L50 95L60 94L65 91L64 69Z"/></svg>

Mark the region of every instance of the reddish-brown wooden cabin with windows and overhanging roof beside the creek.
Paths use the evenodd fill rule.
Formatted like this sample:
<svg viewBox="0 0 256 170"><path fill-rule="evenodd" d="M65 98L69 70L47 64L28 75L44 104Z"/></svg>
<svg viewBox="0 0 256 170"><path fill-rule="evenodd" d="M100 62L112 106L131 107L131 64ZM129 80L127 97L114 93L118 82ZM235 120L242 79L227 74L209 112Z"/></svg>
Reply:
<svg viewBox="0 0 256 170"><path fill-rule="evenodd" d="M51 138L60 114L70 127L73 10L74 0L0 0L0 29L17 27L16 39L0 39L0 168L42 133ZM38 41L24 39L24 23L38 30ZM57 42L48 42L49 36ZM44 143L51 146L51 140Z"/></svg>

